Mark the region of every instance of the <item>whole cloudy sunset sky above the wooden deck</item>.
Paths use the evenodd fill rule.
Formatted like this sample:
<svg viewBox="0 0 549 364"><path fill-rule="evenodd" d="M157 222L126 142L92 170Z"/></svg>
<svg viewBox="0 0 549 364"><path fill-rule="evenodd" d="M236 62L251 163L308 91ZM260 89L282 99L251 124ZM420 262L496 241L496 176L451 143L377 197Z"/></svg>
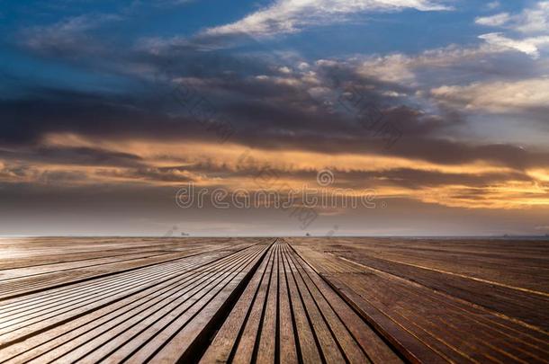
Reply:
<svg viewBox="0 0 549 364"><path fill-rule="evenodd" d="M0 0L0 235L545 235L548 55L549 1Z"/></svg>

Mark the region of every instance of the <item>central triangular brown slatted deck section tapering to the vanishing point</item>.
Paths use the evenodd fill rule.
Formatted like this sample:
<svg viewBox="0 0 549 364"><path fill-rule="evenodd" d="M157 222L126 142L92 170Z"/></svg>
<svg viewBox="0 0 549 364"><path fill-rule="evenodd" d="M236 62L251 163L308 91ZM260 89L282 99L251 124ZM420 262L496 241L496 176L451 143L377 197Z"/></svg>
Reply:
<svg viewBox="0 0 549 364"><path fill-rule="evenodd" d="M401 359L288 244L277 243L202 362L396 363Z"/></svg>

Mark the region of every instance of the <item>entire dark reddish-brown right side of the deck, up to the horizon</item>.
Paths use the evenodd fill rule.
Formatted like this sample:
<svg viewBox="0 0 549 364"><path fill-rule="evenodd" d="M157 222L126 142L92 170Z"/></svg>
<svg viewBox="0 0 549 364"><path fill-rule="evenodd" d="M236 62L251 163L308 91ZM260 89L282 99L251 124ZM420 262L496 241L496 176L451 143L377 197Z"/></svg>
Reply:
<svg viewBox="0 0 549 364"><path fill-rule="evenodd" d="M409 360L549 361L549 241L289 242Z"/></svg>

